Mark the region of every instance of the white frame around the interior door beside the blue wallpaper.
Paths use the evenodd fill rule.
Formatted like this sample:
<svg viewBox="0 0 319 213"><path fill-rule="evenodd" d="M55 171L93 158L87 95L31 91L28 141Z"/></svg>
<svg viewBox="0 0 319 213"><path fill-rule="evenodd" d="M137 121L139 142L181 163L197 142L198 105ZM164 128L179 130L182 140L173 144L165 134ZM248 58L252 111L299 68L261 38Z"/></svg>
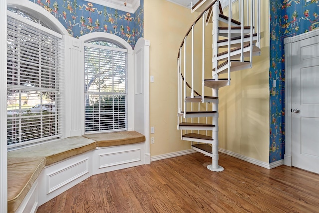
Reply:
<svg viewBox="0 0 319 213"><path fill-rule="evenodd" d="M319 35L319 30L284 39L285 45L285 154L284 165L292 166L292 46L294 42Z"/></svg>

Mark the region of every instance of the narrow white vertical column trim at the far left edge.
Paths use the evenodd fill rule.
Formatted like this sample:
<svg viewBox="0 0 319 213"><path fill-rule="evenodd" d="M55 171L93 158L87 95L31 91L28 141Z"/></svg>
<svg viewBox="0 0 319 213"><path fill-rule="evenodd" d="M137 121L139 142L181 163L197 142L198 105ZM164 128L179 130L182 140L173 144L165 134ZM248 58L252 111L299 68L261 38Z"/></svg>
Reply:
<svg viewBox="0 0 319 213"><path fill-rule="evenodd" d="M6 97L7 97L7 12L6 0L0 1L0 64L2 71L0 72L1 87L0 87L0 212L6 213L8 207L7 194L7 113L6 113Z"/></svg>

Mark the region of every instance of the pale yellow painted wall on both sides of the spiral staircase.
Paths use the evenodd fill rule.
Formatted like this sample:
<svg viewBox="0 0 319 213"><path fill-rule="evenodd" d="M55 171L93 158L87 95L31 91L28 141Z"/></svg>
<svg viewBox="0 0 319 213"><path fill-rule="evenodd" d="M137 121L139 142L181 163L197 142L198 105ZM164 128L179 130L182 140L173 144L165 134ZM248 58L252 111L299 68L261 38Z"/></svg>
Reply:
<svg viewBox="0 0 319 213"><path fill-rule="evenodd" d="M262 2L262 56L253 69L232 73L232 85L220 89L220 147L268 162L269 22ZM190 149L177 130L177 54L198 13L166 0L144 0L144 38L150 40L150 126L155 127L151 156Z"/></svg>

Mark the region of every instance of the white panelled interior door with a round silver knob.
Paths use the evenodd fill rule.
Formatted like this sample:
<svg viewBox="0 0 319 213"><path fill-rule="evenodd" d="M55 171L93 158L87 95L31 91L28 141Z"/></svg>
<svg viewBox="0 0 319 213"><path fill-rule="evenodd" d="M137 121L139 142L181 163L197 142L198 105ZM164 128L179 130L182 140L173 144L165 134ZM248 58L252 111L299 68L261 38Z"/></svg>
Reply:
<svg viewBox="0 0 319 213"><path fill-rule="evenodd" d="M319 36L292 54L292 165L319 173Z"/></svg>

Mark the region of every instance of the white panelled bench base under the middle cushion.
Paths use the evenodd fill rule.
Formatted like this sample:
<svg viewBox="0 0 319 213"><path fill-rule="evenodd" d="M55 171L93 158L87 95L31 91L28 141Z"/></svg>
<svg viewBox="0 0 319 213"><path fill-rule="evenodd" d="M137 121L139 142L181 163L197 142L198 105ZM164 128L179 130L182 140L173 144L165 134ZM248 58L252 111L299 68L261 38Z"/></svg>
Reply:
<svg viewBox="0 0 319 213"><path fill-rule="evenodd" d="M45 167L40 174L39 206L89 178L92 153L88 151Z"/></svg>

